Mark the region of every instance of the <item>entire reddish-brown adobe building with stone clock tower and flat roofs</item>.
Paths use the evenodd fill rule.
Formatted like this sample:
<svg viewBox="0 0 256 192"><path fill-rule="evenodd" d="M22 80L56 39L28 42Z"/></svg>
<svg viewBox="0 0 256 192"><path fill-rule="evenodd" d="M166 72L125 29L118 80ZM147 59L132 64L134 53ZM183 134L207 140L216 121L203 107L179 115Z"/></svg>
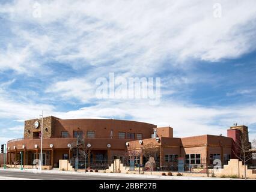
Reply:
<svg viewBox="0 0 256 192"><path fill-rule="evenodd" d="M145 148L159 149L160 165L177 163L177 158L184 158L186 164L212 163L215 158L227 164L233 155L234 143L242 134L248 138L248 127L235 126L225 136L173 137L171 127L136 121L115 119L59 119L54 116L25 121L22 139L7 143L7 164L19 165L21 155L23 166L30 166L40 158L40 137L43 131L44 166L58 167L59 160L70 160L76 156L72 146L78 138L90 148L88 163L102 163L124 155L135 156L143 161ZM21 153L22 152L22 153ZM141 162L142 162L141 161Z"/></svg>

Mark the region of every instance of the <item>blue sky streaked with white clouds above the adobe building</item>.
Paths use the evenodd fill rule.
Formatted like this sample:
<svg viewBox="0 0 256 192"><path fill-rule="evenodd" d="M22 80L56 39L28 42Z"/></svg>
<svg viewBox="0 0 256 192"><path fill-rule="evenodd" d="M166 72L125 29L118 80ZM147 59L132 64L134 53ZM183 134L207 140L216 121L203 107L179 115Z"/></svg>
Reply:
<svg viewBox="0 0 256 192"><path fill-rule="evenodd" d="M1 1L0 142L23 121L115 118L174 128L174 136L256 138L256 4L219 1ZM160 77L161 102L99 99L109 73Z"/></svg>

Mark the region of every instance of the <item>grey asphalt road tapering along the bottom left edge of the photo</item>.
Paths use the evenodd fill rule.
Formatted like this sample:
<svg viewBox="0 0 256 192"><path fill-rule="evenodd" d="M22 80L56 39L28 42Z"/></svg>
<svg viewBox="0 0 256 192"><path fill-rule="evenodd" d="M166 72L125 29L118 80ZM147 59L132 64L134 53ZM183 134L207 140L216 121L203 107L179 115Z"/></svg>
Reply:
<svg viewBox="0 0 256 192"><path fill-rule="evenodd" d="M141 178L127 178L117 176L102 176L102 175L76 175L76 174L58 174L58 173L31 173L31 172L12 172L0 170L0 176L10 178L25 178L25 179L41 179L41 180L136 180ZM150 180L150 178L143 178Z"/></svg>

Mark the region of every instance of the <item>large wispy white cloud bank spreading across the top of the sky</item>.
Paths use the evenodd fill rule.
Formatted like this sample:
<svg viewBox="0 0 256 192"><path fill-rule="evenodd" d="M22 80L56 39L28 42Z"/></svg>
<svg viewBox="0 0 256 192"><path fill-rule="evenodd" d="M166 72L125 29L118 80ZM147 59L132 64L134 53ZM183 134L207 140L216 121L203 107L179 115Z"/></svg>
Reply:
<svg viewBox="0 0 256 192"><path fill-rule="evenodd" d="M38 2L38 19L32 17L34 1L14 1L0 13L21 23L13 33L33 52L75 67L108 64L112 70L150 74L166 59L218 61L255 49L254 0L219 1L223 14L218 19L215 1Z"/></svg>

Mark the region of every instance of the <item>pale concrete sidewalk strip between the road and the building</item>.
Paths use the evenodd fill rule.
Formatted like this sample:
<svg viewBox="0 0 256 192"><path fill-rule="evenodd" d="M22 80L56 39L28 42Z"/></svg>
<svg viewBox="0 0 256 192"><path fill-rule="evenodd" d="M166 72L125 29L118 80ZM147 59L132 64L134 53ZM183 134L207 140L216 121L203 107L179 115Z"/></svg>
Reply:
<svg viewBox="0 0 256 192"><path fill-rule="evenodd" d="M75 175L91 175L91 176L117 176L123 178L139 178L139 179L167 179L167 180L243 180L243 179L232 179L232 178L207 178L200 176L156 176L156 175L139 175L139 174L127 174L127 173L94 173L94 172L70 172L61 170L34 170L34 169L3 169L0 171L7 170L12 172L30 172L30 173L47 173L47 174L75 174Z"/></svg>

